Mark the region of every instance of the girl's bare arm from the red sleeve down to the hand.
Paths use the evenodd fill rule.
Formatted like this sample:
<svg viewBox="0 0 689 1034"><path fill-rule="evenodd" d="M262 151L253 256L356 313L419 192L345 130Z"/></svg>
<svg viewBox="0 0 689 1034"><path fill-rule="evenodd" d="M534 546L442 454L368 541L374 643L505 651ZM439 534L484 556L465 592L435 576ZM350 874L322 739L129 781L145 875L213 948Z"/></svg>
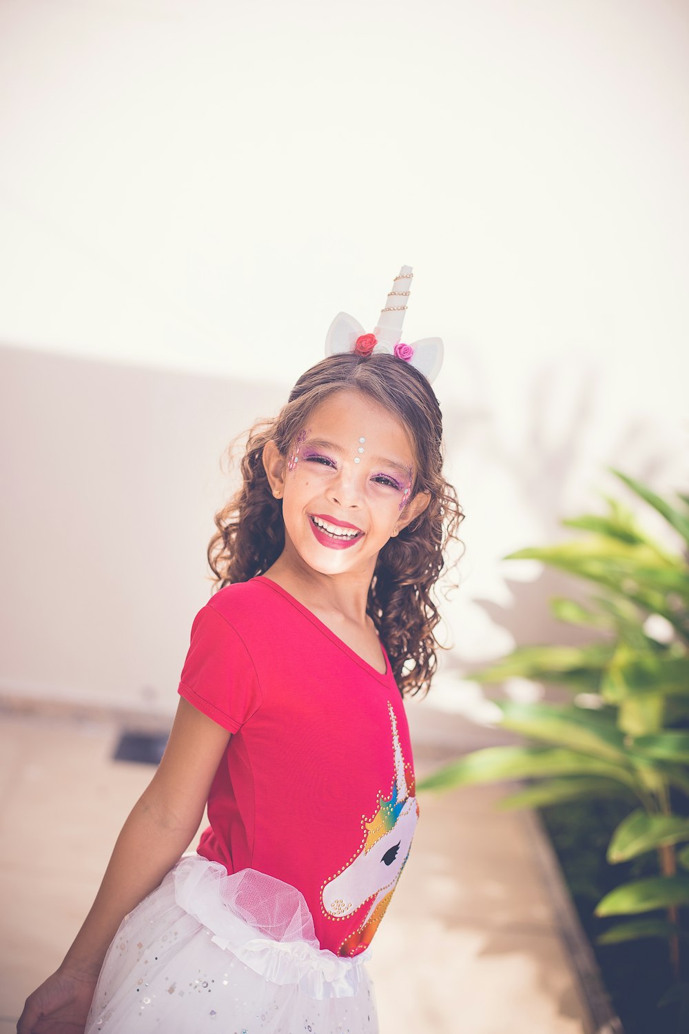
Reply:
<svg viewBox="0 0 689 1034"><path fill-rule="evenodd" d="M30 1034L39 1016L45 1017L41 1031L49 1030L49 1015L59 1021L56 1009L69 1005L65 986L74 992L75 982L83 993L91 987L93 994L123 918L158 886L198 829L229 735L180 699L160 765L122 827L93 906L57 972L27 999L19 1034ZM90 1004L89 998L87 1012Z"/></svg>

